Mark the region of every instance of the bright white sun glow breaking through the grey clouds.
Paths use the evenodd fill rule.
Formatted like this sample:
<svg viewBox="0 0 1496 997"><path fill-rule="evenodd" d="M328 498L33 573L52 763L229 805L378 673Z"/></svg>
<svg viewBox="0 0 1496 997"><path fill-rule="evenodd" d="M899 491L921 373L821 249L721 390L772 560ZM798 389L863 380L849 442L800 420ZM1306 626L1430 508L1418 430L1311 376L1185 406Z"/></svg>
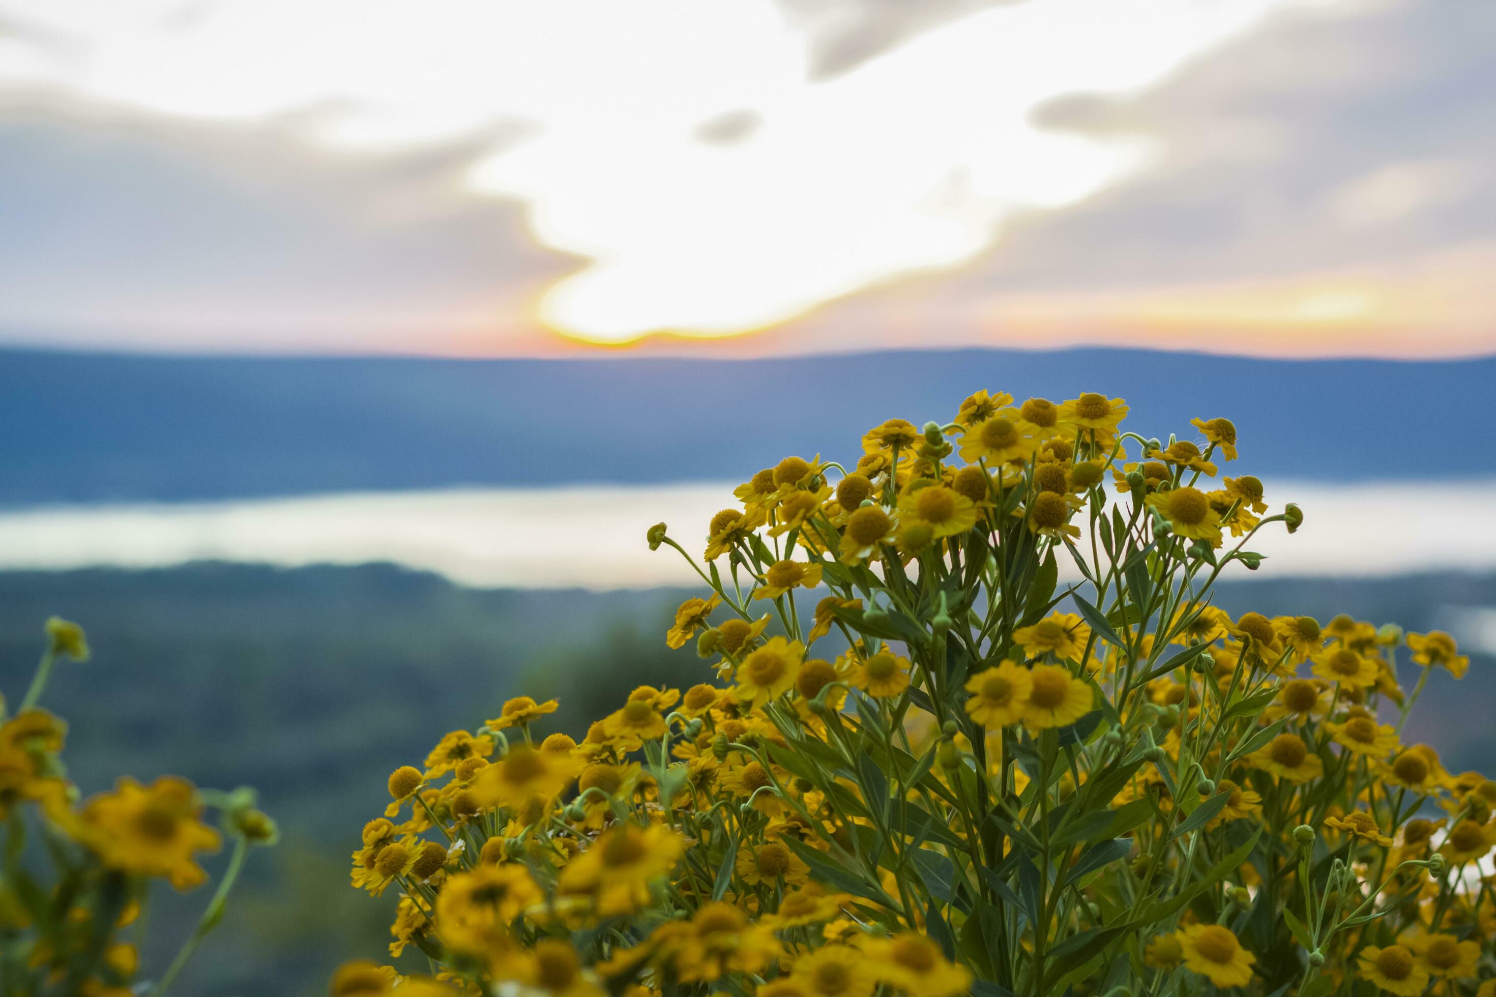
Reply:
<svg viewBox="0 0 1496 997"><path fill-rule="evenodd" d="M353 151L485 144L467 183L586 260L540 319L622 343L741 332L974 257L1014 213L1152 154L1041 130L1035 108L1149 87L1294 1L1008 3L812 81L770 0L0 0L24 25L0 82L283 117Z"/></svg>

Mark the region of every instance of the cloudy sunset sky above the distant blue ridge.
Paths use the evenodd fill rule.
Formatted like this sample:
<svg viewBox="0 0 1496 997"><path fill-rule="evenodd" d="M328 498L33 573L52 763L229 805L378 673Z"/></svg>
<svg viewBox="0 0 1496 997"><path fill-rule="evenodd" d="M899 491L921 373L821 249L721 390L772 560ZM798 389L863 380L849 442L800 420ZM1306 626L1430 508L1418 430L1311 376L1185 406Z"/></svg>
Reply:
<svg viewBox="0 0 1496 997"><path fill-rule="evenodd" d="M1469 0L0 0L0 343L1490 355L1493 46Z"/></svg>

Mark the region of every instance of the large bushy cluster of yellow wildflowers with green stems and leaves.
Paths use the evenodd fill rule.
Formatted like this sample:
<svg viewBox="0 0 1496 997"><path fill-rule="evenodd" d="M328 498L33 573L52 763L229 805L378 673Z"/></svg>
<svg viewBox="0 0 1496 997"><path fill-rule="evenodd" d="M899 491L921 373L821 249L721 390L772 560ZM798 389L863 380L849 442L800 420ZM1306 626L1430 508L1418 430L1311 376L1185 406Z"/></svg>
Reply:
<svg viewBox="0 0 1496 997"><path fill-rule="evenodd" d="M1496 783L1402 738L1468 660L1216 608L1303 513L1218 481L1228 419L1126 412L983 391L752 475L700 561L651 528L709 587L666 633L702 683L580 741L513 699L395 771L353 883L432 976L332 994L1492 997Z"/></svg>

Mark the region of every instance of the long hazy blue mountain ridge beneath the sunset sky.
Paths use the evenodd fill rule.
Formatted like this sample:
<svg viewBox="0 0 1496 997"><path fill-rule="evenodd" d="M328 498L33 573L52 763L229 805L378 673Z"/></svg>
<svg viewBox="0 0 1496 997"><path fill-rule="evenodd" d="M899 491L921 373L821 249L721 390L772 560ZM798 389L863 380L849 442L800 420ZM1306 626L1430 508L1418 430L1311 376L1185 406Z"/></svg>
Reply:
<svg viewBox="0 0 1496 997"><path fill-rule="evenodd" d="M1281 361L1144 350L785 359L197 358L0 350L0 504L187 501L456 485L741 479L851 458L889 416L978 388L1103 389L1128 427L1228 416L1243 472L1486 478L1496 358Z"/></svg>

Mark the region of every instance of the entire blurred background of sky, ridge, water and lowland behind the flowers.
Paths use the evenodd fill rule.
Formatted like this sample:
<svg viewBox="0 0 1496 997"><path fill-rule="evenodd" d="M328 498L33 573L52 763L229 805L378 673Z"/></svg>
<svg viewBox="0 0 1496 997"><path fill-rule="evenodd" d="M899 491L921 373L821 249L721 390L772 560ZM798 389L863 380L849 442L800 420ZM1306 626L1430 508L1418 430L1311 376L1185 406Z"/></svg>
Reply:
<svg viewBox="0 0 1496 997"><path fill-rule="evenodd" d="M0 0L0 689L75 618L85 790L259 786L183 990L319 994L383 955L392 768L705 678L649 524L1100 389L1303 506L1228 609L1453 632L1411 737L1490 769L1493 46L1465 0Z"/></svg>

